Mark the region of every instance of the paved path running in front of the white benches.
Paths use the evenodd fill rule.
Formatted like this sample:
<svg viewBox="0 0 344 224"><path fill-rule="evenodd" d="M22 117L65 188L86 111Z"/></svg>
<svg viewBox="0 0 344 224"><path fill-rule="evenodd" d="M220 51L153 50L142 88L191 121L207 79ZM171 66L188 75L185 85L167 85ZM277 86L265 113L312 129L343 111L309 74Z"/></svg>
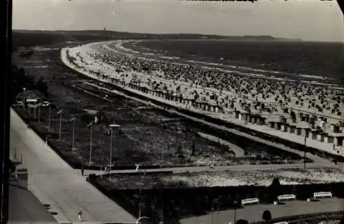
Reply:
<svg viewBox="0 0 344 224"><path fill-rule="evenodd" d="M237 220L262 221L264 210L270 210L272 218L293 216L299 214L312 214L319 212L340 212L344 210L344 199L321 199L321 201L288 201L285 205L249 205L237 210ZM214 224L228 224L234 221L234 210L214 212ZM180 221L182 224L208 224L211 223L211 214L195 216Z"/></svg>

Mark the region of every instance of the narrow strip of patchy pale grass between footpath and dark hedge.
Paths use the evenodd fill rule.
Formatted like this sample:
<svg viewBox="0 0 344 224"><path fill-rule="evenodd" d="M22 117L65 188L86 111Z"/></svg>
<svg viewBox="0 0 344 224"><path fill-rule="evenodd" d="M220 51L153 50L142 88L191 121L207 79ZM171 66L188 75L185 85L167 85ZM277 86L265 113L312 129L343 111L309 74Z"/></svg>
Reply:
<svg viewBox="0 0 344 224"><path fill-rule="evenodd" d="M212 171L184 172L180 174L112 175L111 179L103 178L103 185L115 189L153 189L156 184L163 188L207 188L230 186L270 186L278 178L282 185L299 185L314 183L336 183L344 181L344 172L339 169L297 168L279 170L245 170L245 171Z"/></svg>

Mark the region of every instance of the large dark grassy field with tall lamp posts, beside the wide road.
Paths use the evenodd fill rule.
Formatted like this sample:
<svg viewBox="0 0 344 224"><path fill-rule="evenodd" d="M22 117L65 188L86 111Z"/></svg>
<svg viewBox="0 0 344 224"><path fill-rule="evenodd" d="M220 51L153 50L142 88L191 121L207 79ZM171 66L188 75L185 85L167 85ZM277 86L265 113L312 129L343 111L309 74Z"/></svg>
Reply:
<svg viewBox="0 0 344 224"><path fill-rule="evenodd" d="M85 85L77 86L84 89ZM94 165L109 164L110 136L105 134L109 131L107 124L120 124L120 131L114 131L113 137L113 164L161 164L164 166L191 166L206 165L212 159L216 164L236 164L237 162L252 163L265 161L269 163L270 155L261 148L247 145L245 150L249 153L245 157L235 158L230 153L230 147L224 147L217 142L211 142L197 135L198 127L188 125L181 117L175 117L147 107L133 100L126 100L119 96L110 95L107 100L85 94L75 87L50 87L52 93L57 93L58 97L52 96L52 100L58 104L57 108L51 109L50 130L47 128L49 109L40 108L40 121L38 120L38 109L36 109L36 119L34 111L31 109L30 116L28 109L25 111L18 107L17 111L22 115L31 118L31 125L34 125L41 135L47 137L58 150L69 157L74 157L83 164L89 161L89 146L91 130L87 128L92 119L93 111L102 111L104 120L100 124L95 124L92 130L92 162ZM94 91L91 87L85 87L86 91L105 96L105 93ZM64 109L61 126L61 141L59 137L60 116L57 111ZM74 148L72 150L72 117L76 117L74 123L75 137ZM188 131L185 133L185 125ZM191 155L193 147L194 155ZM261 156L257 156L261 155ZM265 156L265 158L264 158ZM293 158L291 153L279 157L288 159L288 162L301 161L301 158ZM296 159L296 160L293 160Z"/></svg>

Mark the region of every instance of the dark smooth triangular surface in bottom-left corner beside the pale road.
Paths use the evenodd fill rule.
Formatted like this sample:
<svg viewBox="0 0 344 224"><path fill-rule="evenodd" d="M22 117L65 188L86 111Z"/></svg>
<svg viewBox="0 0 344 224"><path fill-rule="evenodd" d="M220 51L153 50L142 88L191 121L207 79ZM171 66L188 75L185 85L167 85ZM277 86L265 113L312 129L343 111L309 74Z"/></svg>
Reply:
<svg viewBox="0 0 344 224"><path fill-rule="evenodd" d="M47 208L24 188L10 185L8 220L30 223L57 223Z"/></svg>

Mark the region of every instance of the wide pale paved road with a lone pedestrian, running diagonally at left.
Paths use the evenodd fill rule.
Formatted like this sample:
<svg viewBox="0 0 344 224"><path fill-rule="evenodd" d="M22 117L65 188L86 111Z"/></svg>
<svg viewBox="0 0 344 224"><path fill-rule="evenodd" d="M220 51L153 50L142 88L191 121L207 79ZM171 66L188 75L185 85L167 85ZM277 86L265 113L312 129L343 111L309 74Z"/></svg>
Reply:
<svg viewBox="0 0 344 224"><path fill-rule="evenodd" d="M50 204L58 222L78 221L83 210L86 221L133 222L136 219L105 197L84 177L78 175L11 109L10 156L23 155L23 166L29 171L29 190L43 204Z"/></svg>

